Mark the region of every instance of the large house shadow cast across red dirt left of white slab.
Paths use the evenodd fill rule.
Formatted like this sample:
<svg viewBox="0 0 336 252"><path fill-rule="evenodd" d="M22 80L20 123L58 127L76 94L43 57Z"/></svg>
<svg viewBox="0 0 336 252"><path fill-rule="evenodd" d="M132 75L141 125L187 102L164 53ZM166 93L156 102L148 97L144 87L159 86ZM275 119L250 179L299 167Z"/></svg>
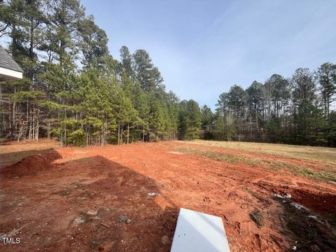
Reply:
<svg viewBox="0 0 336 252"><path fill-rule="evenodd" d="M1 251L170 250L179 210L153 179L118 162L97 155L1 183L0 233L21 239Z"/></svg>

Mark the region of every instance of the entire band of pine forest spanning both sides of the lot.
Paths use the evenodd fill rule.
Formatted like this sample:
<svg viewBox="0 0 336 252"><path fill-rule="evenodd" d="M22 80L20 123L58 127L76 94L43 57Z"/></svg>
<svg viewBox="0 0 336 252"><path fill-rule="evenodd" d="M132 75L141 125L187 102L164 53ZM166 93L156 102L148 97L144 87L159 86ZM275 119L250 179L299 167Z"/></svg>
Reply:
<svg viewBox="0 0 336 252"><path fill-rule="evenodd" d="M63 146L199 137L336 145L335 64L274 74L246 90L234 85L211 111L167 92L146 50L123 46L120 59L112 57L105 31L78 0L0 1L0 37L25 76L1 82L1 138L57 137Z"/></svg>

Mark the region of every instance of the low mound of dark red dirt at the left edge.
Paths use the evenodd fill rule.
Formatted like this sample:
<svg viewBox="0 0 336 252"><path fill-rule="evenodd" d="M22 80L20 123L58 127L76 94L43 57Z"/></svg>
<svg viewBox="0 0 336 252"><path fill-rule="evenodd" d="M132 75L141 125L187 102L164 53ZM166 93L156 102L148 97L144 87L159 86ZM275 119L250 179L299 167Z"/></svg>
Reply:
<svg viewBox="0 0 336 252"><path fill-rule="evenodd" d="M31 155L22 158L19 162L1 169L4 178L13 178L15 176L34 175L52 167L52 161L62 158L57 151L50 153Z"/></svg>

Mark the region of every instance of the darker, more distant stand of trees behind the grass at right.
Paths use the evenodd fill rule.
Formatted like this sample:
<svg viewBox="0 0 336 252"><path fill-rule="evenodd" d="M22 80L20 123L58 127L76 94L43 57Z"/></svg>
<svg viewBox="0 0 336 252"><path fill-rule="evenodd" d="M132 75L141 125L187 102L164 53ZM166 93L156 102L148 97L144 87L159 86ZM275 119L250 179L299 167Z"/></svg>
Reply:
<svg viewBox="0 0 336 252"><path fill-rule="evenodd" d="M218 97L216 113L202 107L205 139L336 146L336 64L316 71L273 74L245 90L233 85Z"/></svg>

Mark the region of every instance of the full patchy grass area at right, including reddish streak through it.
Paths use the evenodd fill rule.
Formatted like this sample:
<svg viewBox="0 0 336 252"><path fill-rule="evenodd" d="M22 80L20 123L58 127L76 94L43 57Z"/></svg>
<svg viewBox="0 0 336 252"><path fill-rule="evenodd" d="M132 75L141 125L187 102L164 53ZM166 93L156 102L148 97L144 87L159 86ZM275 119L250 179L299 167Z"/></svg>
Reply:
<svg viewBox="0 0 336 252"><path fill-rule="evenodd" d="M204 140L181 143L174 150L269 172L286 171L316 181L336 183L336 150L333 148Z"/></svg>

